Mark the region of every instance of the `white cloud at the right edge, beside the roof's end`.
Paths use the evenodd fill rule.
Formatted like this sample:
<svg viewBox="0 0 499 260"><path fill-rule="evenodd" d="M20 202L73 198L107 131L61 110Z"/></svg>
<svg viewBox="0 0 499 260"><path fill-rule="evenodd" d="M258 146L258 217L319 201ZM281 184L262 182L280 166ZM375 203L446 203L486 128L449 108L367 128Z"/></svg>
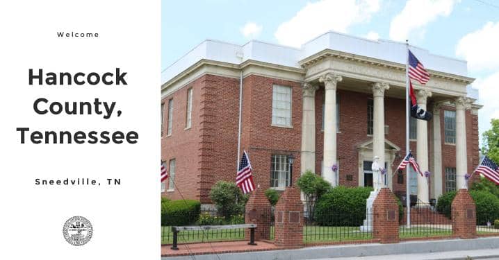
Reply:
<svg viewBox="0 0 499 260"><path fill-rule="evenodd" d="M488 22L483 28L459 40L456 55L468 60L472 71L499 70L499 22Z"/></svg>

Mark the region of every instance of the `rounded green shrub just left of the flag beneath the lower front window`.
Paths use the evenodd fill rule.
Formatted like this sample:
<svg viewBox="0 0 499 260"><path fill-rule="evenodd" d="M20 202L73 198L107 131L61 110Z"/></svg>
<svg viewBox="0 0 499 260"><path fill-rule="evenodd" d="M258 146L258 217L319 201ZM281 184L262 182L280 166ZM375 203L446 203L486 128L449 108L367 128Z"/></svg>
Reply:
<svg viewBox="0 0 499 260"><path fill-rule="evenodd" d="M230 219L244 214L248 196L243 195L234 182L219 181L211 187L210 198L217 206L218 214Z"/></svg>

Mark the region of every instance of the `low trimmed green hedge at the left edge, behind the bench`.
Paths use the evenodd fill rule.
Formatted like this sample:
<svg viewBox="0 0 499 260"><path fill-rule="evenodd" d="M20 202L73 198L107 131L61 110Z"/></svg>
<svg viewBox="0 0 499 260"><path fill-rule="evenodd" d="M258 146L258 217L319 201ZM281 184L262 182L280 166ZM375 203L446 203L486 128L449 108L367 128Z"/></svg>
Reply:
<svg viewBox="0 0 499 260"><path fill-rule="evenodd" d="M161 225L190 225L199 218L198 200L161 200Z"/></svg>

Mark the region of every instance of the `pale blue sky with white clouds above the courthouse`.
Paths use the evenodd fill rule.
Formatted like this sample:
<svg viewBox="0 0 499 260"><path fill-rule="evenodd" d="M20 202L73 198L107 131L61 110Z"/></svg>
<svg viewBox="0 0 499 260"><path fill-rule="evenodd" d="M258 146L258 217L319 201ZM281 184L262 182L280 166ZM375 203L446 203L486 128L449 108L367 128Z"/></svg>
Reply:
<svg viewBox="0 0 499 260"><path fill-rule="evenodd" d="M480 89L480 132L499 118L497 0L163 0L163 69L206 39L300 46L325 31L403 41L468 60ZM496 87L497 86L497 87ZM481 137L480 137L481 139Z"/></svg>

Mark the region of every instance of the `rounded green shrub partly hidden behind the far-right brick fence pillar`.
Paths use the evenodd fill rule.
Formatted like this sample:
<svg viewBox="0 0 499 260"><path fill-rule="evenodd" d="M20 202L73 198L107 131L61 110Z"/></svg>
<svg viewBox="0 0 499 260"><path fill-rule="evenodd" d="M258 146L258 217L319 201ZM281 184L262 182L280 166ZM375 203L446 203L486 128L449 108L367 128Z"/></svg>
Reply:
<svg viewBox="0 0 499 260"><path fill-rule="evenodd" d="M499 198L489 191L470 191L470 195L477 209L477 225L486 225L487 221L499 218ZM455 196L456 192L450 191L439 197L436 205L439 213L451 217L451 205Z"/></svg>

